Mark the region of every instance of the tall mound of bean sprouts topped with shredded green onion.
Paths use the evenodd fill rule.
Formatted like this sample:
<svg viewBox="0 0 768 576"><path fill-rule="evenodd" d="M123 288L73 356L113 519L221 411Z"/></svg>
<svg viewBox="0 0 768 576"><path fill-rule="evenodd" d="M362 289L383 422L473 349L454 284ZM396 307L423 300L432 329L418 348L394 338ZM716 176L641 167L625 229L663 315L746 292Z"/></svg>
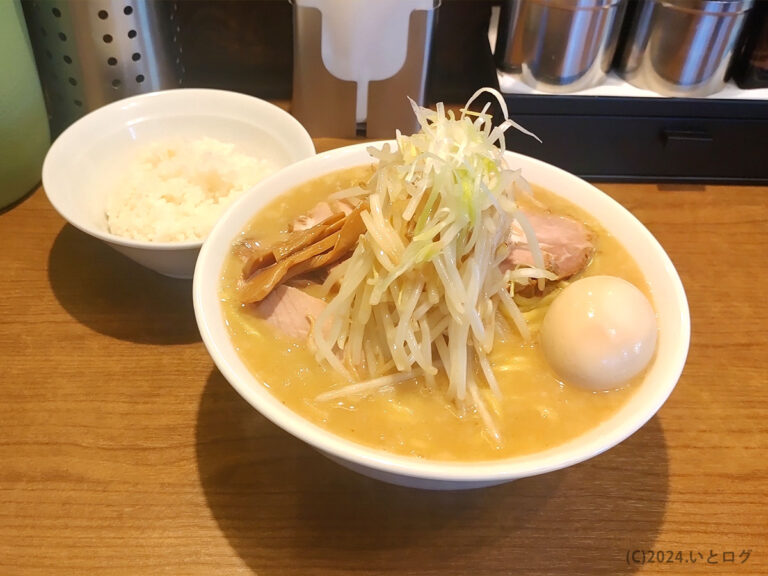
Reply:
<svg viewBox="0 0 768 576"><path fill-rule="evenodd" d="M498 126L489 105L469 110L484 92L501 105L505 120ZM503 97L489 88L478 90L458 117L442 104L436 110L411 105L420 131L398 131L394 149L369 149L378 166L367 190L359 190L368 200L367 231L343 271L328 277L325 289L338 291L315 322L327 328L311 336L321 360L369 380L319 399L369 393L417 375L433 385L442 367L448 396L474 407L497 437L480 394L482 382L500 394L487 358L497 313L529 338L514 284L552 277L515 201L516 192L529 194L530 187L504 158L508 128L534 135L508 118ZM515 219L536 266L502 273Z"/></svg>

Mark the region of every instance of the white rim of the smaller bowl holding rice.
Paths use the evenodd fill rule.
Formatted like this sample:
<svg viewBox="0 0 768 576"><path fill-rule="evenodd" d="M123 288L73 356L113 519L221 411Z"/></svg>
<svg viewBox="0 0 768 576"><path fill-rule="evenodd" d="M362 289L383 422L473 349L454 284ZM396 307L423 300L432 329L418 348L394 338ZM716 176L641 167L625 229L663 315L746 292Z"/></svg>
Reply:
<svg viewBox="0 0 768 576"><path fill-rule="evenodd" d="M48 201L51 203L51 205L53 205L54 209L72 226L81 230L82 232L85 232L86 234L99 238L100 240L110 244L115 244L117 246L124 246L126 248L150 248L154 250L176 251L199 249L202 246L203 240L185 240L181 242L151 242L149 240L136 240L126 236L118 236L108 231L87 226L80 222L78 218L72 216L72 212L68 208L67 203L63 202L62 198L56 193L56 184L51 184L51 170L53 170L52 166L57 161L57 158L62 154L66 154L67 146L69 145L70 140L72 138L76 138L81 132L87 131L88 127L93 122L96 122L100 118L109 116L118 111L126 110L129 108L137 108L138 110L140 106L151 106L155 102L167 99L182 99L187 101L195 101L196 103L200 103L205 99L214 99L221 100L221 106L226 106L228 102L232 103L239 101L242 103L248 103L249 105L255 106L262 110L267 110L270 114L274 114L277 118L282 119L288 125L291 125L296 129L295 136L300 138L300 141L297 141L296 146L301 147L303 149L302 151L306 153L307 157L315 155L315 145L312 137L310 136L309 132L307 132L306 128L296 118L294 118L289 112L280 108L276 104L256 96L251 96L250 94L244 94L242 92L235 92L232 90L222 90L219 88L169 88L166 90L156 90L154 92L145 92L142 94L127 96L125 98L121 98L120 100L115 100L114 102L110 102L99 108L91 110L87 114L75 120L56 137L45 155L41 172L41 183L43 190L46 197L48 198ZM215 115L216 110L209 110L208 113ZM194 116L196 114L190 115ZM46 185L46 181L49 182L48 185ZM248 194L249 192L250 189L244 192L244 194Z"/></svg>

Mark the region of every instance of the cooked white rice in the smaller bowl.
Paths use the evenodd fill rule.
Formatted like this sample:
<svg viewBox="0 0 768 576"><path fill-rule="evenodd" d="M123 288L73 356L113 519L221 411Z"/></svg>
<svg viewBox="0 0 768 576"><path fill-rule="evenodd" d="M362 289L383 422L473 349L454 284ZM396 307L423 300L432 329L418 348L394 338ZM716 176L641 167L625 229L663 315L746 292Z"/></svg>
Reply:
<svg viewBox="0 0 768 576"><path fill-rule="evenodd" d="M150 242L202 240L235 198L277 168L213 138L154 144L109 195L109 231Z"/></svg>

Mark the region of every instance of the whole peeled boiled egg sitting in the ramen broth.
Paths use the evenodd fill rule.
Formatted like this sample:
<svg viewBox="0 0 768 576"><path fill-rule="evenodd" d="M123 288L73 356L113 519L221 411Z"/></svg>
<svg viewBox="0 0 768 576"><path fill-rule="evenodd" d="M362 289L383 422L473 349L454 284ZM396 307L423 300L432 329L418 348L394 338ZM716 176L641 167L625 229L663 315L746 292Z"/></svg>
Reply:
<svg viewBox="0 0 768 576"><path fill-rule="evenodd" d="M611 390L648 366L656 334L653 306L636 286L615 276L590 276L553 300L540 338L564 383Z"/></svg>

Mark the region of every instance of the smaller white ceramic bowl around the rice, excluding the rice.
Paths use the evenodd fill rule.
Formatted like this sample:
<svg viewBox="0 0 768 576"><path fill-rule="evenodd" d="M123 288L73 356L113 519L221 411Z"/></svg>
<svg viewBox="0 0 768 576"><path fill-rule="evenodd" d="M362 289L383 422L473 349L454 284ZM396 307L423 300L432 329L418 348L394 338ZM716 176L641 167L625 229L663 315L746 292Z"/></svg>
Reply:
<svg viewBox="0 0 768 576"><path fill-rule="evenodd" d="M191 278L202 241L144 242L111 234L106 198L136 150L158 141L209 136L287 166L314 155L293 116L264 100L225 90L176 89L98 108L67 128L43 163L43 187L70 224L161 274Z"/></svg>

